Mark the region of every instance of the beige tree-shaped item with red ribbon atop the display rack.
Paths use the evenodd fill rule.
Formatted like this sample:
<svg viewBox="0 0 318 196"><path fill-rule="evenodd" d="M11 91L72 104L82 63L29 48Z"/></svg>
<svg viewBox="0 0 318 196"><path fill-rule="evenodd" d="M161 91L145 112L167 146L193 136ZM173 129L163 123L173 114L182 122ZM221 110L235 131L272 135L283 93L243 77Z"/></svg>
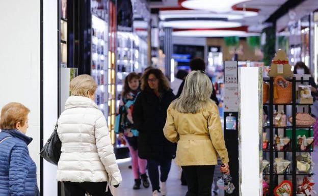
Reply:
<svg viewBox="0 0 318 196"><path fill-rule="evenodd" d="M289 65L286 53L282 49L277 51L272 61L269 76L293 77L292 66Z"/></svg>

